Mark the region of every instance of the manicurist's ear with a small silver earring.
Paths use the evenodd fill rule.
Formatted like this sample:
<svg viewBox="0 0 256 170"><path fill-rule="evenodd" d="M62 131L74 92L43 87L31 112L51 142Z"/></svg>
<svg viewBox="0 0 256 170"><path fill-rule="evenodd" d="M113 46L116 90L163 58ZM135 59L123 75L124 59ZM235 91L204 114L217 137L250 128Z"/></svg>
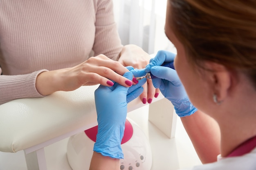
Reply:
<svg viewBox="0 0 256 170"><path fill-rule="evenodd" d="M207 68L211 70L209 71L209 83L211 83L210 87L212 87L212 93L215 94L217 100L221 102L225 100L230 92L233 82L233 73L224 65L218 63L207 62L206 65Z"/></svg>

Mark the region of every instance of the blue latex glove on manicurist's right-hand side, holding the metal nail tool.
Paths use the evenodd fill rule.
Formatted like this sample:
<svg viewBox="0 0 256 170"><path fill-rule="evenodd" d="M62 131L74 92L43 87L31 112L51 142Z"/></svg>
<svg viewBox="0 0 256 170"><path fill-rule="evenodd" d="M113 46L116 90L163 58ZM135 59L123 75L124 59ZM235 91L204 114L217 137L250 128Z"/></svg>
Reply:
<svg viewBox="0 0 256 170"><path fill-rule="evenodd" d="M172 52L160 50L144 70L135 69L131 70L131 72L133 74L136 72L139 75L151 72L151 74L156 76L157 78L152 80L154 87L159 88L164 97L172 102L177 115L184 117L195 113L197 109L189 101L176 70L159 66L164 62L173 61L175 56L176 54Z"/></svg>

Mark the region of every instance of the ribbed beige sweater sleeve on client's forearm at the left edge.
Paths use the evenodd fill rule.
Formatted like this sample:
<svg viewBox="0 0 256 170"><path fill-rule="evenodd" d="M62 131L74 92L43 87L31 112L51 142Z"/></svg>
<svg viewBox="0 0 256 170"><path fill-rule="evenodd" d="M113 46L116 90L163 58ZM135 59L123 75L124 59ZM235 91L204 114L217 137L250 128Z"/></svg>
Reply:
<svg viewBox="0 0 256 170"><path fill-rule="evenodd" d="M0 105L18 98L43 97L36 89L36 77L45 71L48 70L22 75L0 75Z"/></svg>

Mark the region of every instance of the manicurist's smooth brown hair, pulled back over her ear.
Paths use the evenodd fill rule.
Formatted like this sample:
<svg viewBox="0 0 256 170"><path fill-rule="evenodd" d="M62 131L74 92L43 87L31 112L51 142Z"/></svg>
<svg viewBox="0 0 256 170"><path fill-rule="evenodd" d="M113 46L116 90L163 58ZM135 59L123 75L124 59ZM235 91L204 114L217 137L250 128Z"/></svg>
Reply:
<svg viewBox="0 0 256 170"><path fill-rule="evenodd" d="M170 0L171 24L189 61L244 72L256 87L256 1Z"/></svg>

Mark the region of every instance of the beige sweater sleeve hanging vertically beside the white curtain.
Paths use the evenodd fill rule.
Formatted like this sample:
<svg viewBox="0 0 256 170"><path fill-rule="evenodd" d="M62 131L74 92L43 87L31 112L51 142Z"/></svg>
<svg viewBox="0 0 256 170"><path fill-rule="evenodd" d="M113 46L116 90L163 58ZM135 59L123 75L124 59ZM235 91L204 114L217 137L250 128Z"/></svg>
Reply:
<svg viewBox="0 0 256 170"><path fill-rule="evenodd" d="M94 55L105 54L117 61L123 46L115 23L112 0L96 0L95 3Z"/></svg>

